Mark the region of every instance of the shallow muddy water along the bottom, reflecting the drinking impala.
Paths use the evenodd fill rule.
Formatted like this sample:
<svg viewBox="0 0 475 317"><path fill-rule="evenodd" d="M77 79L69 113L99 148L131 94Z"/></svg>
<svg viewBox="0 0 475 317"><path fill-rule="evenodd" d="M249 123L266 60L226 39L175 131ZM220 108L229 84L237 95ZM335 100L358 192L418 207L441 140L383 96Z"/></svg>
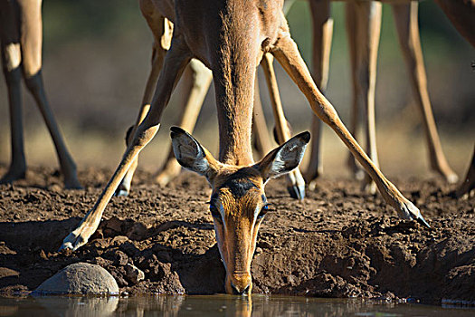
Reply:
<svg viewBox="0 0 475 317"><path fill-rule="evenodd" d="M0 316L473 316L475 310L417 303L290 296L0 298Z"/></svg>

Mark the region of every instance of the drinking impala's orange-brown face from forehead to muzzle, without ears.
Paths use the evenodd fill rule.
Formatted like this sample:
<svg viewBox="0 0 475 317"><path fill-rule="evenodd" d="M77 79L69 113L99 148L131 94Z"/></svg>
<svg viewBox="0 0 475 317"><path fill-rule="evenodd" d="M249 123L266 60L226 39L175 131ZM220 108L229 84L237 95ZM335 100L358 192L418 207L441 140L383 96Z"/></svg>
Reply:
<svg viewBox="0 0 475 317"><path fill-rule="evenodd" d="M214 230L226 268L226 293L251 293L252 255L265 199L263 179L256 168L223 168L214 178L210 204L221 214L221 218L214 216Z"/></svg>

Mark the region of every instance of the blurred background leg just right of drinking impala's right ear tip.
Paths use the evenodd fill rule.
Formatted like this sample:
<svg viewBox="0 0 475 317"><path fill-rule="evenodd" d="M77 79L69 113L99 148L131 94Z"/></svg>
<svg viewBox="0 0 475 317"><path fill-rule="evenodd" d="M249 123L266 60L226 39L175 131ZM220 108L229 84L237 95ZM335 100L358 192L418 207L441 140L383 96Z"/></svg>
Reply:
<svg viewBox="0 0 475 317"><path fill-rule="evenodd" d="M333 19L330 17L329 0L311 0L310 10L313 26L312 75L320 91L325 92L328 83L328 66L330 61L331 40L333 35ZM309 166L305 178L309 181L309 189L313 190L318 176L323 170L321 143L321 121L312 116L312 139L310 140Z"/></svg>

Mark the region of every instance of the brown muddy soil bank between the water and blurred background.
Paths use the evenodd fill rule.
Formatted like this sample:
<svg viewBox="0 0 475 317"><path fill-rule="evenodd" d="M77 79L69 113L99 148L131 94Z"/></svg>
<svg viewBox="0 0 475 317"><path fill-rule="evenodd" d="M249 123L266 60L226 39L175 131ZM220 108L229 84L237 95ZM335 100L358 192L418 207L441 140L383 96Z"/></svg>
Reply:
<svg viewBox="0 0 475 317"><path fill-rule="evenodd" d="M0 174L5 166L0 167ZM0 186L0 292L31 291L67 264L100 264L128 293L222 293L224 270L204 202L204 178L170 186L138 172L129 197L114 197L100 229L79 251L57 253L93 206L109 170L82 170L84 190L64 190L49 168ZM322 179L299 202L282 181L267 187L252 262L255 293L475 301L475 198L454 200L439 179L393 179L432 225L400 220L351 179ZM133 264L145 273L137 283Z"/></svg>

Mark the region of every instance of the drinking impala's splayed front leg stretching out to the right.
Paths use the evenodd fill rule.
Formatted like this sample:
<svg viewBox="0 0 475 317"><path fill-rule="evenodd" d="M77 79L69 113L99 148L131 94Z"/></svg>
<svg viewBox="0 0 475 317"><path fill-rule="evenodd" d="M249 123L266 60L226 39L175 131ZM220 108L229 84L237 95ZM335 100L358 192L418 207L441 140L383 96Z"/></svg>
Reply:
<svg viewBox="0 0 475 317"><path fill-rule="evenodd" d="M297 44L290 38L287 29L280 30L279 41L272 51L273 55L279 60L282 67L289 73L292 80L299 86L307 97L311 109L333 129L337 136L347 145L347 148L353 153L358 162L365 168L366 172L373 178L381 195L385 201L398 212L399 216L408 219L417 219L425 226L429 226L417 207L407 200L399 190L385 178L383 173L368 158L361 149L356 139L349 133L343 122L339 119L337 111L331 103L318 91L317 85L313 82L309 70L303 62Z"/></svg>

